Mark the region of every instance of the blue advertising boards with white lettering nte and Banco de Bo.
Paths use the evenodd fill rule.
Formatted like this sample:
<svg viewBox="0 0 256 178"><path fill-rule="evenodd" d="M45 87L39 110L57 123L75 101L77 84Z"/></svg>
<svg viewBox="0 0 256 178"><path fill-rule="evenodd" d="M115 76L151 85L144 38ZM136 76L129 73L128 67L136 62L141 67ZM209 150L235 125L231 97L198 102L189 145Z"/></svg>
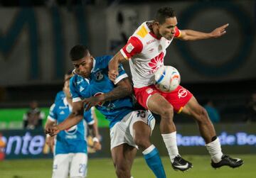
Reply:
<svg viewBox="0 0 256 178"><path fill-rule="evenodd" d="M182 155L208 155L205 142L196 124L177 124L177 143ZM225 123L215 125L222 150L226 154L256 154L256 123ZM92 140L87 138L89 157L110 157L110 130L100 128L102 150L95 152ZM161 138L159 126L153 131L151 142L161 155L167 150ZM138 152L141 155L141 152ZM23 158L52 158L53 153L45 144L43 130L1 130L0 160Z"/></svg>

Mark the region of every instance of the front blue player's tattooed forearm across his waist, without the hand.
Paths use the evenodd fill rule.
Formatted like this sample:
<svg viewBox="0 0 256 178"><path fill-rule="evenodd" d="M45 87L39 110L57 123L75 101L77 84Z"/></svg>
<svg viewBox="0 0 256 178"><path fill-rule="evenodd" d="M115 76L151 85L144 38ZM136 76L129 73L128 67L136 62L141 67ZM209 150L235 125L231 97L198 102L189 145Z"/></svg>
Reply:
<svg viewBox="0 0 256 178"><path fill-rule="evenodd" d="M122 99L125 96L129 96L132 94L132 87L126 87L119 85L115 87L112 91L103 94L104 101L113 101L116 99Z"/></svg>

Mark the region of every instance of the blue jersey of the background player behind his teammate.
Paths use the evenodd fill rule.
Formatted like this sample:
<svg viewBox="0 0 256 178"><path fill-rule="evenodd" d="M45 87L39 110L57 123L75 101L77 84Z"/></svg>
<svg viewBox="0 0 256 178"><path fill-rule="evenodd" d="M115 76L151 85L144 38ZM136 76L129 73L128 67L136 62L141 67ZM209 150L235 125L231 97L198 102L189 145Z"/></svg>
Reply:
<svg viewBox="0 0 256 178"><path fill-rule="evenodd" d="M59 98L50 107L48 119L61 123L68 118L71 111L72 106L68 104L67 99ZM84 118L88 124L94 123L91 110L84 113ZM84 121L80 121L80 123L67 130L60 131L56 136L55 155L70 152L87 152Z"/></svg>

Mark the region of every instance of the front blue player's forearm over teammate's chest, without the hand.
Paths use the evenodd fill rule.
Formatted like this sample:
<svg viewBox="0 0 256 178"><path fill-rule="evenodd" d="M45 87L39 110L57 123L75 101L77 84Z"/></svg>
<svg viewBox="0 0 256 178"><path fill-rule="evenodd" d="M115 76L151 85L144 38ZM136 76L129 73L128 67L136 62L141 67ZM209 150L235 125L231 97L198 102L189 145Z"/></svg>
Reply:
<svg viewBox="0 0 256 178"><path fill-rule="evenodd" d="M82 120L82 118L83 116L81 113L72 112L70 113L70 116L68 116L68 118L66 118L62 123L58 124L58 129L65 130L72 126L75 126Z"/></svg>

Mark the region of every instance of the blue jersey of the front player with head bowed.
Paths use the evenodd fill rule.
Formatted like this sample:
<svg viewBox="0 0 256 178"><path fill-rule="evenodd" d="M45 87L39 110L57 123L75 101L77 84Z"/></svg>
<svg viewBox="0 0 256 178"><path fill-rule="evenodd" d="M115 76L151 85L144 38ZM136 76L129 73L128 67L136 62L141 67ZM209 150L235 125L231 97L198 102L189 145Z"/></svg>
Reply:
<svg viewBox="0 0 256 178"><path fill-rule="evenodd" d="M78 74L70 79L70 92L73 102L110 92L115 87L114 83L117 84L128 77L122 65L119 65L119 76L114 83L110 81L108 63L111 59L112 56L109 55L95 57L89 79L85 79ZM112 128L115 123L121 121L124 116L133 111L133 106L132 97L127 96L114 101L105 101L97 105L96 108L110 121L110 128Z"/></svg>

